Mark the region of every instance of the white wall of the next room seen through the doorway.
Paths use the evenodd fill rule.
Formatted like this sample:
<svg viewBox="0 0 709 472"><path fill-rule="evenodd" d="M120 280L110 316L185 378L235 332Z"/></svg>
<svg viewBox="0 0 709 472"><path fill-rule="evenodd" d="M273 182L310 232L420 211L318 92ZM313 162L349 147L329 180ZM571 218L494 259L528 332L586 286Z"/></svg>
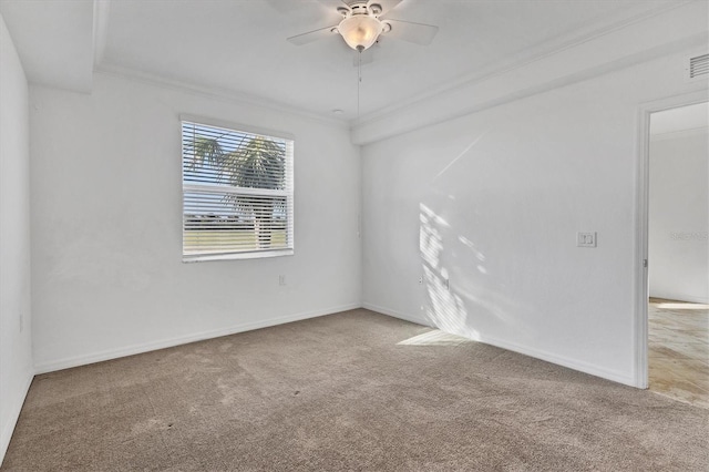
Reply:
<svg viewBox="0 0 709 472"><path fill-rule="evenodd" d="M650 296L709 304L709 134L650 142Z"/></svg>

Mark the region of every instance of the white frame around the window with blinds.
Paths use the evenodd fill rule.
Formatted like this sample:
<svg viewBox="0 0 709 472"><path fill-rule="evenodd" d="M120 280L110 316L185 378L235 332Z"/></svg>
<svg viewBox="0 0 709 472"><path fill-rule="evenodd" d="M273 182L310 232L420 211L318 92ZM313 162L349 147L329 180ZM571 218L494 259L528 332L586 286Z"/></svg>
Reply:
<svg viewBox="0 0 709 472"><path fill-rule="evenodd" d="M260 259L260 258L269 258L269 257L281 257L281 256L292 256L295 254L296 243L295 243L295 145L296 140L295 136L290 133L285 133L280 131L274 131L263 127L249 126L237 124L233 122L226 122L220 120L214 120L205 116L195 116L189 114L179 114L179 141L181 141L181 153L179 153L179 163L181 163L181 177L182 177L182 204L181 204L181 222L182 222L182 232L181 232L181 240L182 240L182 261L183 263L199 263L199 261L209 261L209 260L239 260L239 259ZM269 188L245 188L245 187L236 187L236 186L223 186L223 185L214 185L214 184L194 184L185 182L185 166L184 166L184 124L193 123L195 125L204 125L218 127L226 131L233 131L236 133L245 133L253 134L258 136L264 136L267 138L275 140L284 140L286 141L286 148L290 148L290 153L286 152L286 162L285 162L285 176L286 179L286 189L285 191L274 191ZM199 189L199 192L209 192L210 188L214 193L230 193L228 188L238 188L238 192L234 192L235 194L251 194L255 196L258 195L269 195L269 196L285 196L288 204L287 207L289 211L287 212L287 216L289 216L290 220L287 218L287 237L288 245L285 248L279 249L256 249L256 250L238 250L238 252L224 252L224 253L212 253L212 254L185 254L185 191L186 189Z"/></svg>

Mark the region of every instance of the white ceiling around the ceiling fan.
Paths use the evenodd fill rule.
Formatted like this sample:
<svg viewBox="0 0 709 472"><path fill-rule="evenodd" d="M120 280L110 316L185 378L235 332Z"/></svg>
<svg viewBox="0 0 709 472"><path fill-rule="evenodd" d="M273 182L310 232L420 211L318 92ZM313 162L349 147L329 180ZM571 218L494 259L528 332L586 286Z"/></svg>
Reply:
<svg viewBox="0 0 709 472"><path fill-rule="evenodd" d="M373 48L373 61L362 66L360 115L415 101L678 3L403 0L387 18L435 24L438 35L427 47L383 38ZM0 12L32 82L70 88L72 71L86 68L89 48L93 69L351 120L358 111L356 53L337 35L301 47L286 41L337 24L338 4L339 0L0 0ZM90 25L86 12L93 18ZM343 113L335 116L333 110Z"/></svg>

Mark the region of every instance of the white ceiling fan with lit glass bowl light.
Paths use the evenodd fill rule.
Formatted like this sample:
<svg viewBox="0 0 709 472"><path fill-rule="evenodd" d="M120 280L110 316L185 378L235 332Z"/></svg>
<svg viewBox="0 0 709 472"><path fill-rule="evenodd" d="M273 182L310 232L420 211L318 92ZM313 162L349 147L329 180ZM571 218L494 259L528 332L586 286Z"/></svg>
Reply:
<svg viewBox="0 0 709 472"><path fill-rule="evenodd" d="M432 24L382 18L402 0L341 0L337 12L342 16L338 24L296 34L288 41L296 45L340 34L345 42L358 52L374 44L380 35L401 39L417 44L430 44L439 28Z"/></svg>

